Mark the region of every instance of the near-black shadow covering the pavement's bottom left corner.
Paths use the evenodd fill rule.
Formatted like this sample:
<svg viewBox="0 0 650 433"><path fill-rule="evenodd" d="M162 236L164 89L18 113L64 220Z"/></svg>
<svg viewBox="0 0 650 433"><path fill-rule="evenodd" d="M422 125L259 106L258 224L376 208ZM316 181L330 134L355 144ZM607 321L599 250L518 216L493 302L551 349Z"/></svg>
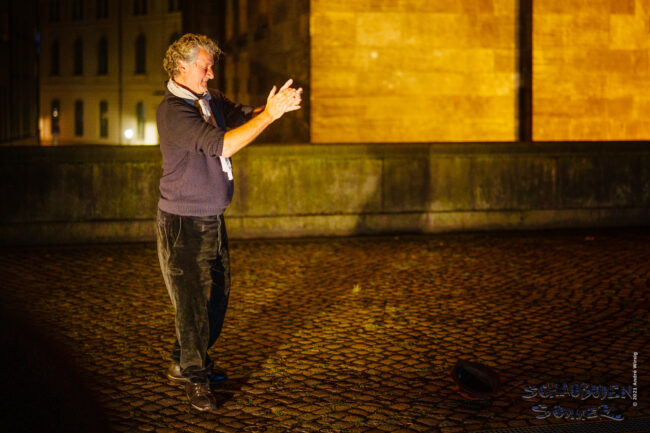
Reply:
<svg viewBox="0 0 650 433"><path fill-rule="evenodd" d="M2 430L23 433L108 433L108 419L62 345L37 320L2 309Z"/></svg>

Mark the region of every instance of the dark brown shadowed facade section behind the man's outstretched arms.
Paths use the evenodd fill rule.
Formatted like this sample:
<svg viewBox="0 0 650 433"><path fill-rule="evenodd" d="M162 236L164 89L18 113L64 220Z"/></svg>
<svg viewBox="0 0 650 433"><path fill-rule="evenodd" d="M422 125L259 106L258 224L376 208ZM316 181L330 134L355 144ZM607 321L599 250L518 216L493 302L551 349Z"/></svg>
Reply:
<svg viewBox="0 0 650 433"><path fill-rule="evenodd" d="M302 87L302 109L271 125L262 142L310 141L310 2L227 0L220 41L225 55L223 90L234 100L263 105L269 90L293 78Z"/></svg>

